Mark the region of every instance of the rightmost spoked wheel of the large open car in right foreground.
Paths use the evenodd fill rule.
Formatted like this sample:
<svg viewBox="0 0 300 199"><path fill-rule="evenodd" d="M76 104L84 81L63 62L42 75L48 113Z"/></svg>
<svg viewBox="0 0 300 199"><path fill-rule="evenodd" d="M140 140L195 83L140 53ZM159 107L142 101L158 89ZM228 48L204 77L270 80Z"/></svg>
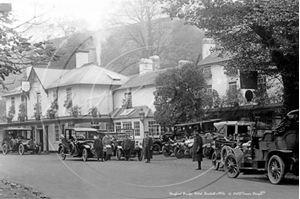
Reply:
<svg viewBox="0 0 300 199"><path fill-rule="evenodd" d="M285 175L285 164L281 157L273 155L268 162L268 178L272 184L279 184Z"/></svg>

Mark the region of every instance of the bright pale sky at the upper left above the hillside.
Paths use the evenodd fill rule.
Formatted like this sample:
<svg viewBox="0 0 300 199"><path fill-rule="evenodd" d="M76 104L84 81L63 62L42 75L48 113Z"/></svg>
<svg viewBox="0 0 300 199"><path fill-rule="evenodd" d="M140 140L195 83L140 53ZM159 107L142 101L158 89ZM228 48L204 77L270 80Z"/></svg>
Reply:
<svg viewBox="0 0 300 199"><path fill-rule="evenodd" d="M103 27L103 21L118 8L123 0L0 0L11 3L13 14L20 23L39 16L40 20L53 22L57 18L85 19L89 29Z"/></svg>

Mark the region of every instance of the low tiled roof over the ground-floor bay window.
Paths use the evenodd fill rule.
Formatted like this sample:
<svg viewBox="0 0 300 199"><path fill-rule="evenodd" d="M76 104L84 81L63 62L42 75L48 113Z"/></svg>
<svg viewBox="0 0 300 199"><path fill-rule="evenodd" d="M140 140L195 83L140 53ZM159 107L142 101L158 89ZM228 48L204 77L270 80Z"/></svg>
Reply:
<svg viewBox="0 0 300 199"><path fill-rule="evenodd" d="M132 110L130 110L132 109ZM153 111L148 107L148 106L137 106L137 107L132 107L130 109L126 108L119 108L115 109L113 112L110 113L111 118L113 119L128 119L128 118L140 118L140 111L141 109L145 112L145 118L150 117L153 118L154 113ZM124 111L129 110L129 114L123 114Z"/></svg>

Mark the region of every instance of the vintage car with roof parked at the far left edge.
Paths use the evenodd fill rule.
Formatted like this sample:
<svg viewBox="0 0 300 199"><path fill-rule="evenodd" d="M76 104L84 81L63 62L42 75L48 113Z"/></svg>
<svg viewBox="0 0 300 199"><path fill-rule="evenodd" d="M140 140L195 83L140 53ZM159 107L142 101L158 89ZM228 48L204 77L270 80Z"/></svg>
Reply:
<svg viewBox="0 0 300 199"><path fill-rule="evenodd" d="M6 128L3 130L2 152L4 155L8 152L41 154L41 146L33 141L31 128Z"/></svg>

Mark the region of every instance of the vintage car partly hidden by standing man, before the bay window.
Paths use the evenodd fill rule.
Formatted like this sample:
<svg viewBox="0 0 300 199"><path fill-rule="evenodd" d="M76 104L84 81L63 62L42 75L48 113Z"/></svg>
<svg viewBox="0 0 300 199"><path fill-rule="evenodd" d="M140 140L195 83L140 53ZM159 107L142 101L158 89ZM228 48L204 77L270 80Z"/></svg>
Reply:
<svg viewBox="0 0 300 199"><path fill-rule="evenodd" d="M131 139L131 147L130 147L130 157L137 157L139 161L143 160L143 147L142 144L139 143L135 139L134 130L133 129L118 129L114 135L115 141L115 154L117 160L122 160L124 157L124 150L123 150L123 140L126 135L129 135Z"/></svg>

